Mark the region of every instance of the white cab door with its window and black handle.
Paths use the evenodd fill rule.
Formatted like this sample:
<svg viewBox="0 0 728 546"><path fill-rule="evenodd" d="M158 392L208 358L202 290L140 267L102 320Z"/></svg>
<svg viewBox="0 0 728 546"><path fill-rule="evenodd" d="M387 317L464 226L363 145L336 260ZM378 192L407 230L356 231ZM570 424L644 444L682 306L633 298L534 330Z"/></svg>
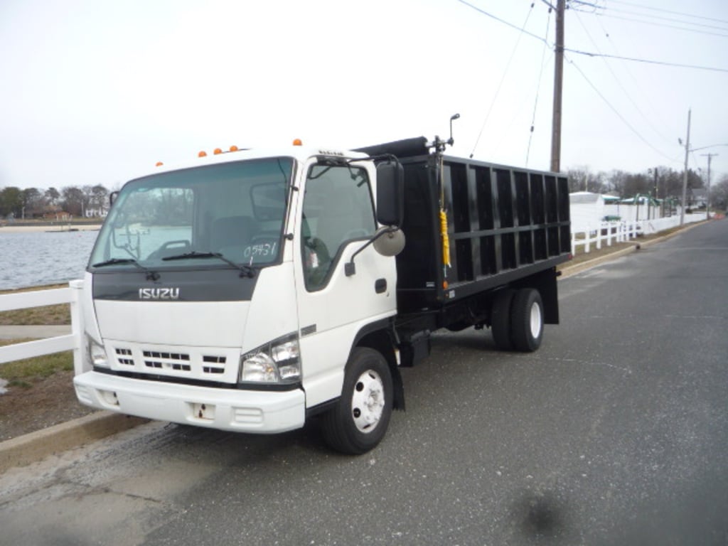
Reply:
<svg viewBox="0 0 728 546"><path fill-rule="evenodd" d="M357 332L395 314L395 259L369 245L376 231L370 176L363 167L309 167L298 229L296 282L306 405L341 394Z"/></svg>

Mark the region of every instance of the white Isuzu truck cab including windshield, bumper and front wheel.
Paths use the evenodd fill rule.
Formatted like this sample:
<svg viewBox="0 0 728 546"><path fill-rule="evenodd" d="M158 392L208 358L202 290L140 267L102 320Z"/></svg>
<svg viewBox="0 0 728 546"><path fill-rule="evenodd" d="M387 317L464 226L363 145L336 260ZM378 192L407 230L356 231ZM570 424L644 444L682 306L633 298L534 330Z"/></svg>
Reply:
<svg viewBox="0 0 728 546"><path fill-rule="evenodd" d="M334 447L379 443L394 403L397 272L395 251L368 243L401 217L398 164L383 165L378 190L367 155L293 146L125 184L85 276L79 400L261 433L325 411Z"/></svg>

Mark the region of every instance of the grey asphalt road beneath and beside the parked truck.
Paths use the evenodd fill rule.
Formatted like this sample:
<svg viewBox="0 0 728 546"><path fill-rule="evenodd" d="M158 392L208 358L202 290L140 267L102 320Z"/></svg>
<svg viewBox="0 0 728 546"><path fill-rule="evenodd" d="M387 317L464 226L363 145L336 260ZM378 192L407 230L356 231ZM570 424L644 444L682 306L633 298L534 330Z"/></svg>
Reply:
<svg viewBox="0 0 728 546"><path fill-rule="evenodd" d="M728 544L728 221L560 290L533 355L435 336L370 454L153 423L0 476L0 544Z"/></svg>

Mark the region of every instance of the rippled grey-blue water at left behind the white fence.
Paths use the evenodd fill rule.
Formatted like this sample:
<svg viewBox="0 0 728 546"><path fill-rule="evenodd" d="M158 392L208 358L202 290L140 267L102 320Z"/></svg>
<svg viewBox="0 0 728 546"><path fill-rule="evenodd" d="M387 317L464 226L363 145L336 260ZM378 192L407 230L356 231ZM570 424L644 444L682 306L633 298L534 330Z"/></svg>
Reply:
<svg viewBox="0 0 728 546"><path fill-rule="evenodd" d="M0 230L0 290L82 278L97 235Z"/></svg>

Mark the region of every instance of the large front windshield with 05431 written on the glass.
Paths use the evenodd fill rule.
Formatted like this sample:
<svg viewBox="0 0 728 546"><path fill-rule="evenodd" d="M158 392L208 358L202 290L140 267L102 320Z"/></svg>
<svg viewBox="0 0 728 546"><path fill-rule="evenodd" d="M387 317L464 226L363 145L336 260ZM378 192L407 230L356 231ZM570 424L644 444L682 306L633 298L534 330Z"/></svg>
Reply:
<svg viewBox="0 0 728 546"><path fill-rule="evenodd" d="M130 181L111 207L89 266L161 271L277 262L292 171L293 159L277 157ZM225 259L200 260L200 253Z"/></svg>

